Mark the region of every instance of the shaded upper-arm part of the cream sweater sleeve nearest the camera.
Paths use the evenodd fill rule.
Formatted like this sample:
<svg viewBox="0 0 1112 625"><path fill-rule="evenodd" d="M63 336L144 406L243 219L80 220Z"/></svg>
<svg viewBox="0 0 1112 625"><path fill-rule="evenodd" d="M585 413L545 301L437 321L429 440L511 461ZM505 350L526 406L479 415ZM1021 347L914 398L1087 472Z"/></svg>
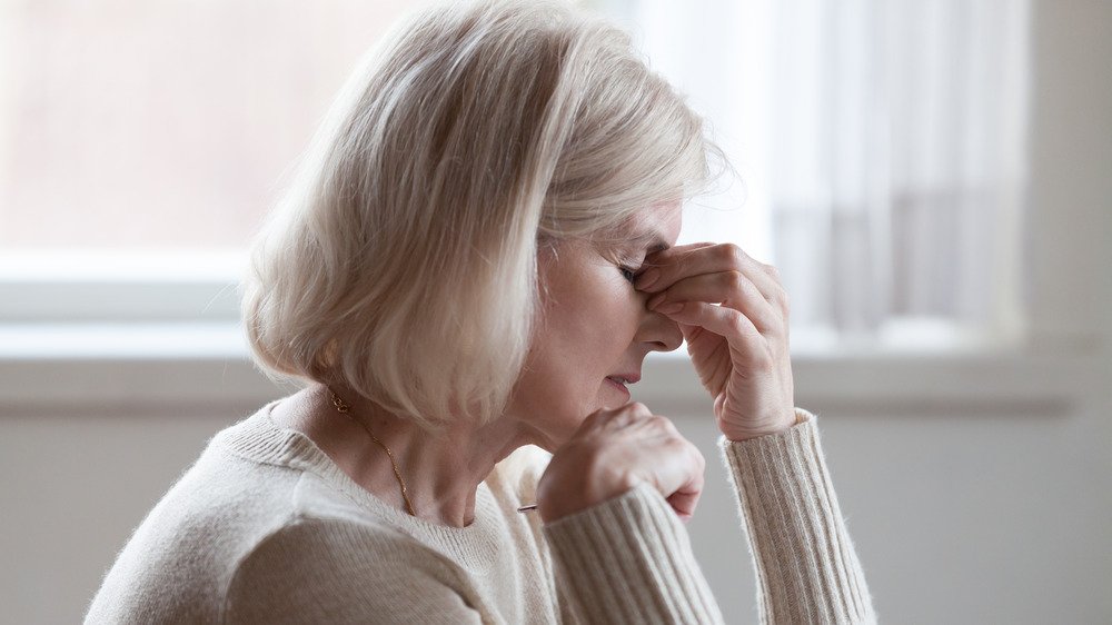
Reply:
<svg viewBox="0 0 1112 625"><path fill-rule="evenodd" d="M307 519L270 534L244 557L222 623L477 624L474 602L450 566L404 540Z"/></svg>

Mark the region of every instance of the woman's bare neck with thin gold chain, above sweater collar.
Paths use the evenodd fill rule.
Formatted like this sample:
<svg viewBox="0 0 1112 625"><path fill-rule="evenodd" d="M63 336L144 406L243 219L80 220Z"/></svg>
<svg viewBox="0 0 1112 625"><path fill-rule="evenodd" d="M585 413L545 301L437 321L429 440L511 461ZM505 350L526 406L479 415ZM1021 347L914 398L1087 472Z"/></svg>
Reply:
<svg viewBox="0 0 1112 625"><path fill-rule="evenodd" d="M455 421L430 434L350 390L334 389L349 405L351 418L337 411L327 388L316 386L298 394L304 395L306 415L290 425L305 431L360 486L405 510L389 456L356 421L366 425L394 454L416 516L431 523L469 525L479 484L498 462L529 443L527 429L510 418L481 426Z"/></svg>

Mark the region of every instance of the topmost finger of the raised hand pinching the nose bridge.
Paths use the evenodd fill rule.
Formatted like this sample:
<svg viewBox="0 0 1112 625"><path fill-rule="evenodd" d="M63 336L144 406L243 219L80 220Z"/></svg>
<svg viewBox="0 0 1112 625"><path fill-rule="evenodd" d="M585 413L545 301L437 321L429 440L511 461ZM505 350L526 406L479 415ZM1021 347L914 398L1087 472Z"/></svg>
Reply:
<svg viewBox="0 0 1112 625"><path fill-rule="evenodd" d="M658 294L693 276L737 271L756 287L765 300L787 314L787 295L780 282L780 272L771 265L754 260L736 245L676 246L652 255L646 265L649 268L634 281L638 290Z"/></svg>

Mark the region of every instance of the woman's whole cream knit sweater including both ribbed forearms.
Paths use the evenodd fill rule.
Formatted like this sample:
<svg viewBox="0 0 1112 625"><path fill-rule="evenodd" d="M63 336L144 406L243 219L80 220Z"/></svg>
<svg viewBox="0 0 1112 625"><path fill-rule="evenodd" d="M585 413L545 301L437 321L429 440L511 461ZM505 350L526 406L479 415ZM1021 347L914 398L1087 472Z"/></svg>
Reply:
<svg viewBox="0 0 1112 625"><path fill-rule="evenodd" d="M479 486L471 525L444 527L364 490L277 427L272 406L219 433L155 506L87 623L723 622L684 525L651 487L542 525L516 509L547 462L525 448ZM762 619L874 622L804 415L785 433L722 440Z"/></svg>

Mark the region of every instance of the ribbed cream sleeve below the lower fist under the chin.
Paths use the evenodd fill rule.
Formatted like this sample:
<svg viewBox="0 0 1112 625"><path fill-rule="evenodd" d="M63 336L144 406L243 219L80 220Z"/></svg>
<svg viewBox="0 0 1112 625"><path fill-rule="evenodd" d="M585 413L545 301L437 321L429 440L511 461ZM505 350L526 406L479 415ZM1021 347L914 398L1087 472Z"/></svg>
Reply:
<svg viewBox="0 0 1112 625"><path fill-rule="evenodd" d="M683 524L651 485L544 526L560 599L586 623L722 623Z"/></svg>

